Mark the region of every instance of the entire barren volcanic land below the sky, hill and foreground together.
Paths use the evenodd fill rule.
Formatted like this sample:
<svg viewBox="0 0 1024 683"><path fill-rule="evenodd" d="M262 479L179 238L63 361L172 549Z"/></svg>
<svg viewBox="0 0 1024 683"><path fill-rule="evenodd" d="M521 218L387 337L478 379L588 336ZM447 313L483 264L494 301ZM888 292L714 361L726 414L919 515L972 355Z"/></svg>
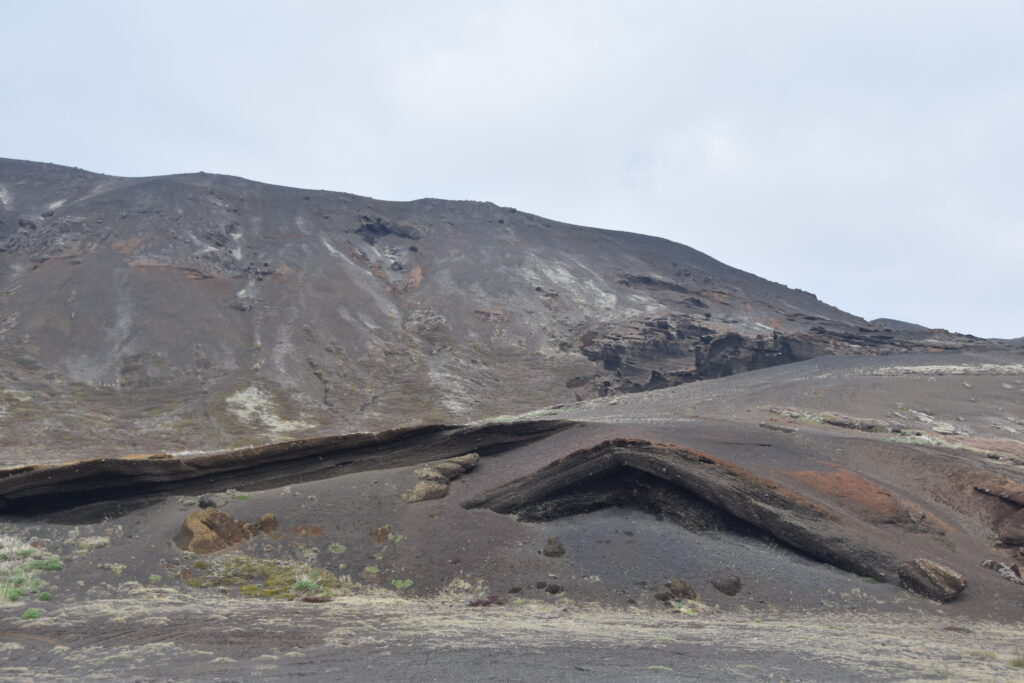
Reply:
<svg viewBox="0 0 1024 683"><path fill-rule="evenodd" d="M664 240L0 162L0 678L1010 679L1022 433Z"/></svg>

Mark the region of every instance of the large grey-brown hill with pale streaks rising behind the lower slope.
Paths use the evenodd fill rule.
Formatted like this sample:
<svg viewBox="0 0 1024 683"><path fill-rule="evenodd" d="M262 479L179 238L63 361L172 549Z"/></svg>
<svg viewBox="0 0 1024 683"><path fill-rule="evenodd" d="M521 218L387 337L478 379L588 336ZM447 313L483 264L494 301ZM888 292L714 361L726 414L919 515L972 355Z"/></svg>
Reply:
<svg viewBox="0 0 1024 683"><path fill-rule="evenodd" d="M0 305L7 465L464 422L827 353L981 344L493 204L18 161L0 161Z"/></svg>

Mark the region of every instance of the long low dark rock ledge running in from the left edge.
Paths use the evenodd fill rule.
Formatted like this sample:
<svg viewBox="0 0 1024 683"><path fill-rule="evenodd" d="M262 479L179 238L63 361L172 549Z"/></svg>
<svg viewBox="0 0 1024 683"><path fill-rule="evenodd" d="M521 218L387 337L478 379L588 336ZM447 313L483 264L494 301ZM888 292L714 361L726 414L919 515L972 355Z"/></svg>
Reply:
<svg viewBox="0 0 1024 683"><path fill-rule="evenodd" d="M157 500L200 494L216 485L280 486L389 469L451 456L445 467L467 471L479 457L529 443L571 427L568 421L428 425L381 432L286 441L208 456L100 458L54 466L0 470L0 512L52 513L87 504ZM458 455L456 455L458 454ZM109 512L109 511L108 511Z"/></svg>

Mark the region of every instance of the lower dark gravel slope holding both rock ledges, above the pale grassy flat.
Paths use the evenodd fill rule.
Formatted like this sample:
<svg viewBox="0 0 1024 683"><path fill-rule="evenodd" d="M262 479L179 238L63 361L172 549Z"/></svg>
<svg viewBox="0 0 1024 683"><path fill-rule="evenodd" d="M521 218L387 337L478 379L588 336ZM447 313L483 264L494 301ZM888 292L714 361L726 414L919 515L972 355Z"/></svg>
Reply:
<svg viewBox="0 0 1024 683"><path fill-rule="evenodd" d="M246 567L287 561L331 572L319 575L339 594L432 596L461 582L473 592L463 609L488 595L508 608L672 608L692 589L725 610L1019 623L1024 356L930 355L818 358L595 399L559 413L574 422L0 471L0 536L61 553L47 610L118 581L111 566L122 582L163 575L197 602L210 593L193 589L218 587L256 600L273 586L247 587L263 574ZM774 405L762 403L769 386ZM255 530L267 514L278 527ZM226 552L191 545L210 531Z"/></svg>

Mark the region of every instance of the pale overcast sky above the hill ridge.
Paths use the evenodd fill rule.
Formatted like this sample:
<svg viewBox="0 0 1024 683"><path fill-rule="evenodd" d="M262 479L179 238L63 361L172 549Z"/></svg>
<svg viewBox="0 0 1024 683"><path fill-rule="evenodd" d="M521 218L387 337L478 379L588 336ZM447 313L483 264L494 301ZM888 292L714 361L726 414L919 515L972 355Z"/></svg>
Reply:
<svg viewBox="0 0 1024 683"><path fill-rule="evenodd" d="M1024 335L1024 2L0 0L0 156L487 200Z"/></svg>

